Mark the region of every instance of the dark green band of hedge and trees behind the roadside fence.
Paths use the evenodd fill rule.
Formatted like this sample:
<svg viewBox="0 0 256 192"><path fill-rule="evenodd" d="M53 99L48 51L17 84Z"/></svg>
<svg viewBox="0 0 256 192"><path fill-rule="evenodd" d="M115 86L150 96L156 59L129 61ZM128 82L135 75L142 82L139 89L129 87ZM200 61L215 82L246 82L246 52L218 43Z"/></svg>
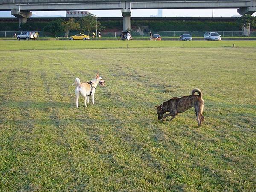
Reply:
<svg viewBox="0 0 256 192"><path fill-rule="evenodd" d="M85 21L84 21L85 20ZM132 29L140 29L141 31L239 31L248 28L256 29L256 17L251 15L243 15L236 21L148 21L148 20L132 20ZM122 30L122 20L97 21L98 31L106 30ZM65 21L62 18L52 21L28 21L23 23L19 29L18 22L1 22L0 31L44 31L44 34L52 36L61 36L69 31L80 31L90 33L96 31L96 17L87 16L81 18L70 18Z"/></svg>

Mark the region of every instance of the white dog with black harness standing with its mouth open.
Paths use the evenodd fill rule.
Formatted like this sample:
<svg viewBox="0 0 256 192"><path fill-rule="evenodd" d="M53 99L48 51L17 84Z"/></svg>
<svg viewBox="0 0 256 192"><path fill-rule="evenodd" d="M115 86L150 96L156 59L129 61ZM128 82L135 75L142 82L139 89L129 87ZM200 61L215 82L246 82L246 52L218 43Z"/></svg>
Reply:
<svg viewBox="0 0 256 192"><path fill-rule="evenodd" d="M103 83L105 83L105 81L99 76L99 73L97 73L96 77L87 83L81 83L80 79L77 77L75 79L75 82L72 84L76 86L76 89L75 89L76 108L78 108L78 98L80 93L82 94L82 96L84 96L85 107L87 107L86 100L87 100L87 103L89 103L90 96L92 96L92 102L94 105L94 94L95 94L97 85L100 84L102 86L105 86Z"/></svg>

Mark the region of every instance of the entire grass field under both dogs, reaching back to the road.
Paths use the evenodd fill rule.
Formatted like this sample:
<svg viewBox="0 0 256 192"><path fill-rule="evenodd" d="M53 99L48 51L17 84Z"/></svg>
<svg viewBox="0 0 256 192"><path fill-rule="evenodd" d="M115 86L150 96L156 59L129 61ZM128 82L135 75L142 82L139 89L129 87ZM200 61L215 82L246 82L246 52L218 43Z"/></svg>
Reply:
<svg viewBox="0 0 256 192"><path fill-rule="evenodd" d="M134 42L0 41L0 191L256 191L256 42ZM194 109L157 120L193 88L200 128Z"/></svg>

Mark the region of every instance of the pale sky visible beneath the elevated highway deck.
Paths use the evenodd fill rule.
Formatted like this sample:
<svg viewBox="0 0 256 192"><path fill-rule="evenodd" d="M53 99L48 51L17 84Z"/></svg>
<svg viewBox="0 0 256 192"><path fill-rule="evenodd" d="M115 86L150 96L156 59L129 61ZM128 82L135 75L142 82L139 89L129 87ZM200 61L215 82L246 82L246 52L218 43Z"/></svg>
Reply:
<svg viewBox="0 0 256 192"><path fill-rule="evenodd" d="M121 10L90 10L97 17L122 17ZM33 12L34 14L34 12ZM3 15L3 14L1 14ZM10 17L10 12L6 12L7 17ZM35 12L36 16L66 16L65 11L44 11ZM131 10L132 17L150 17L157 15L157 9ZM213 17L232 17L239 15L237 9L213 9ZM256 13L253 14L255 16ZM163 17L212 17L212 9L163 9Z"/></svg>

